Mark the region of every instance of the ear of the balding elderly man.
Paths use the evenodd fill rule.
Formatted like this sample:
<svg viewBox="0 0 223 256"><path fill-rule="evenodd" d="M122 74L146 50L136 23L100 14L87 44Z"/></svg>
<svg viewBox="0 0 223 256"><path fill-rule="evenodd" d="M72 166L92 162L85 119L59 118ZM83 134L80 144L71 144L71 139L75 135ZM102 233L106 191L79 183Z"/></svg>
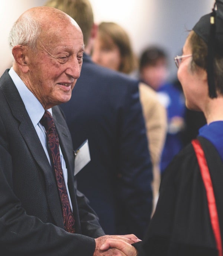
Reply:
<svg viewBox="0 0 223 256"><path fill-rule="evenodd" d="M27 73L29 71L27 46L26 45L14 46L12 49L12 54L20 70L23 73Z"/></svg>

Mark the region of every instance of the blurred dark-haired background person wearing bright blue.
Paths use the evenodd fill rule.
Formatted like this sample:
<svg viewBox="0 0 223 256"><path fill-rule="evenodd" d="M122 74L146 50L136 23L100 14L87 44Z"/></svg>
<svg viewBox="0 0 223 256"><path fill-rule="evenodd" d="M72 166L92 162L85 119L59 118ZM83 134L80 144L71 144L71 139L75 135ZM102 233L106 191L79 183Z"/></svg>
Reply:
<svg viewBox="0 0 223 256"><path fill-rule="evenodd" d="M168 63L164 49L151 46L139 58L140 80L152 87L167 109L167 137L161 156L161 173L182 149L182 132L185 128L185 103L182 90L167 82Z"/></svg>

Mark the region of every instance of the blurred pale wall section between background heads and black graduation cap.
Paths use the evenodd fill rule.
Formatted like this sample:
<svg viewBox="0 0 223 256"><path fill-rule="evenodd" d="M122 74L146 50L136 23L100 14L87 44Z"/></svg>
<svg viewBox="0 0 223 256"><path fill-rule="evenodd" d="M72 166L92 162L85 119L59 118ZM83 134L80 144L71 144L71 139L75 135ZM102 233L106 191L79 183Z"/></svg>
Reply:
<svg viewBox="0 0 223 256"><path fill-rule="evenodd" d="M149 44L164 47L170 79L176 77L175 55L181 53L187 30L206 13L214 0L91 0L96 22L114 21L126 29L136 54Z"/></svg>

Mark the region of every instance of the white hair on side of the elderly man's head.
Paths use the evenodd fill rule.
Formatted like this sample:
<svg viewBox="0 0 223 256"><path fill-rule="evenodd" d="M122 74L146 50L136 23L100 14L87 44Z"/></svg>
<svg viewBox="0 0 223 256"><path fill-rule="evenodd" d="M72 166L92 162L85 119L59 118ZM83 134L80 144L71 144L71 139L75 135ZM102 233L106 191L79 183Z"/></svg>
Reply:
<svg viewBox="0 0 223 256"><path fill-rule="evenodd" d="M9 46L12 49L15 45L28 45L33 51L36 51L40 33L41 25L38 21L28 15L20 17L9 33Z"/></svg>

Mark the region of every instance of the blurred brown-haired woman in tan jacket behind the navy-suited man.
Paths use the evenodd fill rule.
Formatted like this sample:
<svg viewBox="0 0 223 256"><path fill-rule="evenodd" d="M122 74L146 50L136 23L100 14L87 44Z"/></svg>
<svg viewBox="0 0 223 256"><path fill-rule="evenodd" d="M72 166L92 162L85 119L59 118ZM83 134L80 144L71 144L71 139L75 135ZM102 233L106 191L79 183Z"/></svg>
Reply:
<svg viewBox="0 0 223 256"><path fill-rule="evenodd" d="M138 61L133 52L129 35L117 23L101 22L94 40L92 60L104 67L128 75L134 73ZM153 210L159 195L160 158L167 129L167 114L155 90L139 83L140 102L146 122L148 148L153 164Z"/></svg>

